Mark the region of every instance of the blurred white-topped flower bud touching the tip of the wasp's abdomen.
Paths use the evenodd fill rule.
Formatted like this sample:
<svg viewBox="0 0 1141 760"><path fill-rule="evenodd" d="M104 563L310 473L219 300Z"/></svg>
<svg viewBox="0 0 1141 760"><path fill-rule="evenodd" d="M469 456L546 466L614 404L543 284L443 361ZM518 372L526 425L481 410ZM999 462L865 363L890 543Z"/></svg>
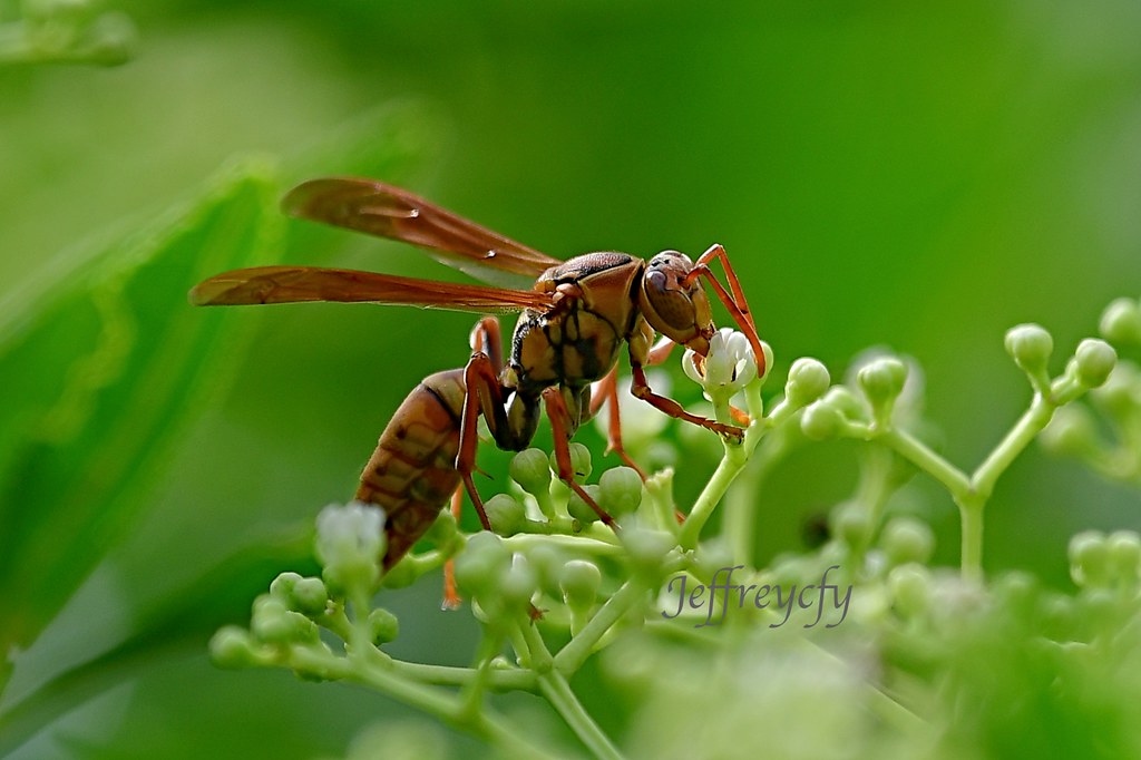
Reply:
<svg viewBox="0 0 1141 760"><path fill-rule="evenodd" d="M375 588L387 544L383 527L385 512L378 507L351 503L321 510L315 548L331 588Z"/></svg>

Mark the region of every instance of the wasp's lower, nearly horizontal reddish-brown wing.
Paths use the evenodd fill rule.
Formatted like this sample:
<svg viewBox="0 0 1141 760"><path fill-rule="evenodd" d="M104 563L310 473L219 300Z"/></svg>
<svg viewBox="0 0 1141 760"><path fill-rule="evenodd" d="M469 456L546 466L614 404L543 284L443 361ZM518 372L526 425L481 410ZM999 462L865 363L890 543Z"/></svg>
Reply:
<svg viewBox="0 0 1141 760"><path fill-rule="evenodd" d="M195 306L340 301L407 304L458 312L510 313L550 309L549 293L430 280L395 277L356 269L252 267L203 280L191 290Z"/></svg>

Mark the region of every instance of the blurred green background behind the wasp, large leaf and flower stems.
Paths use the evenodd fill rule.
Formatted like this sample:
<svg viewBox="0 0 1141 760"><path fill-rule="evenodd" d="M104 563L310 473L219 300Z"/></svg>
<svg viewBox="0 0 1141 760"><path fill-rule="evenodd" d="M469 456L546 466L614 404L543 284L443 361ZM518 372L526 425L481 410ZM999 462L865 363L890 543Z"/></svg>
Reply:
<svg viewBox="0 0 1141 760"><path fill-rule="evenodd" d="M386 171L560 258L723 243L778 375L808 355L840 378L869 346L914 357L942 450L973 467L1029 397L1003 332L1039 322L1063 356L1110 299L1141 290L1133 0L105 7L138 29L128 64L0 66L0 296L35 292L51 267L49 282L66 282L68 251L194 197L235 155L269 156L278 189ZM16 3L0 9L15 18ZM399 245L304 223L285 233L274 259L459 278ZM171 302L191 309L191 284ZM235 552L304 534L351 494L408 389L463 363L472 322L335 305L202 318L241 322L244 342L219 343L209 403L18 654L0 705L129 639ZM0 394L18 407L10 379ZM581 439L600 453L594 430ZM815 446L775 474L758 495L763 556L801 548L804 520L850 493L853 451ZM504 458L485 458L501 476ZM682 500L711 467L687 460ZM956 563L950 501L919 479L907 498ZM1031 447L992 501L986 567L1065 588L1068 536L1136 529L1138 507L1135 491ZM406 632L394 650L464 664L475 623L438 612L438 592L393 593ZM410 718L348 687L218 671L208 632L185 630L100 676L16 757L335 757L363 727Z"/></svg>

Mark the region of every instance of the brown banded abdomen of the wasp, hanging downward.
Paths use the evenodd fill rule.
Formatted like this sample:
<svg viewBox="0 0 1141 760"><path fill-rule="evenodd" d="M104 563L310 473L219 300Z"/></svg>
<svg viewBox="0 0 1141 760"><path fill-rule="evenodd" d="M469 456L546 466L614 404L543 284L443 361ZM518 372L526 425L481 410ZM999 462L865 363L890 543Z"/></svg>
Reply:
<svg viewBox="0 0 1141 760"><path fill-rule="evenodd" d="M463 370L437 372L404 399L361 474L356 499L385 509L388 571L424 534L460 485Z"/></svg>

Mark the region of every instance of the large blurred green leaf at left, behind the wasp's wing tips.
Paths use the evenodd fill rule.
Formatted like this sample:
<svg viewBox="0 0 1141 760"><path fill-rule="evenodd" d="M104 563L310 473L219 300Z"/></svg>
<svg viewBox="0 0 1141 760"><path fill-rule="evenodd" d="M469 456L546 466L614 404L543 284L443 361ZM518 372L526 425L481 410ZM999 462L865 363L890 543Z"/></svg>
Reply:
<svg viewBox="0 0 1141 760"><path fill-rule="evenodd" d="M0 305L0 646L27 647L146 508L170 445L220 383L240 321L202 277L280 244L275 171L246 161L128 240L59 261Z"/></svg>

